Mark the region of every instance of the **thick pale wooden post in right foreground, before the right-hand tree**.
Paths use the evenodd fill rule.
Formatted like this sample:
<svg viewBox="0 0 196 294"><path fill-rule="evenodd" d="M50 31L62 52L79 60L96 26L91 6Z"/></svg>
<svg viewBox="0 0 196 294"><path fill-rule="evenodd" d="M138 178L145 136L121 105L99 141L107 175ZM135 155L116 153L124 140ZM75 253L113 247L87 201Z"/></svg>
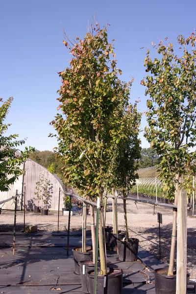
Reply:
<svg viewBox="0 0 196 294"><path fill-rule="evenodd" d="M179 192L177 199L177 271L176 294L187 292L187 194Z"/></svg>

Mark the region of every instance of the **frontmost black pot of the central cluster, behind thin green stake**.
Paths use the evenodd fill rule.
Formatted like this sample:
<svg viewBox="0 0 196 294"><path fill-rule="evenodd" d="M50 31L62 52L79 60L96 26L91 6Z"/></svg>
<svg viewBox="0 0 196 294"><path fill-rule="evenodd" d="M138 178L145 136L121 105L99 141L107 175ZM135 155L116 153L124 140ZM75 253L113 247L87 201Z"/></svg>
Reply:
<svg viewBox="0 0 196 294"><path fill-rule="evenodd" d="M99 273L99 272L98 272ZM87 272L87 283L90 293L94 293L94 270ZM104 287L105 285L105 287ZM121 294L123 289L122 270L110 270L106 275L99 275L97 279L98 294Z"/></svg>

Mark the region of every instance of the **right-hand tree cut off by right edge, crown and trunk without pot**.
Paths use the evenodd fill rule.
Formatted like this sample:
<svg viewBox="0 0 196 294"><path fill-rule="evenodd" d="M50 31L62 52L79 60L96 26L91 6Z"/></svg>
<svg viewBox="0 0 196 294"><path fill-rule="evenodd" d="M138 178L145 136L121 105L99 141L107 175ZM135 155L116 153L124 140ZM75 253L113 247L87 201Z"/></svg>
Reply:
<svg viewBox="0 0 196 294"><path fill-rule="evenodd" d="M141 82L150 96L145 136L160 156L160 173L174 191L174 204L181 201L180 188L196 159L196 36L193 33L185 40L180 35L177 40L183 50L180 57L171 43L158 45L160 59L152 60L147 51L145 66L150 74ZM168 275L173 275L176 216L174 210Z"/></svg>

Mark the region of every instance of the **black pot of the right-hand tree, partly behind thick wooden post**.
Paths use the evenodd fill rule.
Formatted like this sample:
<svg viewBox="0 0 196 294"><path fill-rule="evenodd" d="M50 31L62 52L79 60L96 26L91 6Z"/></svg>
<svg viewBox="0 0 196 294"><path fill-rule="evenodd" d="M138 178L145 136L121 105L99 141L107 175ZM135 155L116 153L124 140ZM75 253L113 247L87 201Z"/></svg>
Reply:
<svg viewBox="0 0 196 294"><path fill-rule="evenodd" d="M175 294L176 291L176 270L173 275L169 276L168 269L154 270L155 293L156 294ZM187 272L187 284L189 282L190 273Z"/></svg>

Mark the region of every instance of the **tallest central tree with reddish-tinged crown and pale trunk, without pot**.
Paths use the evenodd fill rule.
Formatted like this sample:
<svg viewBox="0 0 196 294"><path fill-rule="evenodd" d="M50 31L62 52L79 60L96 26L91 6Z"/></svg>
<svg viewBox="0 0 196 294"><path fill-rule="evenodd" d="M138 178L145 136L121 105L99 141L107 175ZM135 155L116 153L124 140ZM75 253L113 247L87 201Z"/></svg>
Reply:
<svg viewBox="0 0 196 294"><path fill-rule="evenodd" d="M106 28L92 26L83 40L77 40L73 45L64 41L73 59L70 67L59 73L62 86L58 109L62 113L52 124L58 133L58 152L66 181L91 199L100 197L102 204L103 188L123 136L119 111L128 99L129 89L118 78L121 71ZM101 217L99 254L101 273L106 274Z"/></svg>

